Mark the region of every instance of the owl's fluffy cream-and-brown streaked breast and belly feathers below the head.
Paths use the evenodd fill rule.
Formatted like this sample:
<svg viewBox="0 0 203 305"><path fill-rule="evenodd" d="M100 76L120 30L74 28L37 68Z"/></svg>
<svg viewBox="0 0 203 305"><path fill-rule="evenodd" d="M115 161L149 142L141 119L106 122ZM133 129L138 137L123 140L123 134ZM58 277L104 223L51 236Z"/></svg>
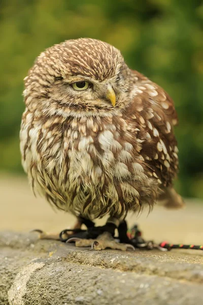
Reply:
<svg viewBox="0 0 203 305"><path fill-rule="evenodd" d="M127 205L136 209L148 193L154 200L157 181L147 176L135 137L122 121L28 118L21 127L23 167L33 190L57 207L98 217L111 208L118 215Z"/></svg>

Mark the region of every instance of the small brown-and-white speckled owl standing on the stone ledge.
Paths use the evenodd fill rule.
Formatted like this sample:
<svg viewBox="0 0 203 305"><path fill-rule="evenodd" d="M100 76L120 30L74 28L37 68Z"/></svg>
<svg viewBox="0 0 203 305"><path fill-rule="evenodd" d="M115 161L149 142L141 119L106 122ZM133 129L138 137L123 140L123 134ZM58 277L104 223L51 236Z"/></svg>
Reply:
<svg viewBox="0 0 203 305"><path fill-rule="evenodd" d="M68 240L126 250L125 237L111 239L128 212L157 200L183 205L172 184L174 103L128 68L118 49L95 39L67 40L41 53L24 81L22 166L35 194L76 216ZM107 223L95 227L104 216ZM41 231L41 237L53 235Z"/></svg>

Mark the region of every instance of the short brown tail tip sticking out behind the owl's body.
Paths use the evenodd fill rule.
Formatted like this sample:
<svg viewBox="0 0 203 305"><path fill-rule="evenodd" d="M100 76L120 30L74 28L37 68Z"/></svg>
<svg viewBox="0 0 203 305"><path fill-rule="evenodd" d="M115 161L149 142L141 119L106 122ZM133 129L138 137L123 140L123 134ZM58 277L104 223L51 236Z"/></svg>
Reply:
<svg viewBox="0 0 203 305"><path fill-rule="evenodd" d="M158 202L166 208L183 208L185 206L183 198L173 187L164 188L163 192L158 197Z"/></svg>

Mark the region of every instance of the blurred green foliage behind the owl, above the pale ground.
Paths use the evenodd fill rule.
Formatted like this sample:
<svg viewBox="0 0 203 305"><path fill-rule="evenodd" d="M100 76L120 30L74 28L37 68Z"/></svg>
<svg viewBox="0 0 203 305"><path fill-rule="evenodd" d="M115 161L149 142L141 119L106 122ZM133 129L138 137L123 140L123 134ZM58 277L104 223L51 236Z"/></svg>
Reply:
<svg viewBox="0 0 203 305"><path fill-rule="evenodd" d="M203 2L200 0L2 0L0 169L22 173L23 78L45 48L67 39L107 41L161 85L179 114L184 196L203 198Z"/></svg>

